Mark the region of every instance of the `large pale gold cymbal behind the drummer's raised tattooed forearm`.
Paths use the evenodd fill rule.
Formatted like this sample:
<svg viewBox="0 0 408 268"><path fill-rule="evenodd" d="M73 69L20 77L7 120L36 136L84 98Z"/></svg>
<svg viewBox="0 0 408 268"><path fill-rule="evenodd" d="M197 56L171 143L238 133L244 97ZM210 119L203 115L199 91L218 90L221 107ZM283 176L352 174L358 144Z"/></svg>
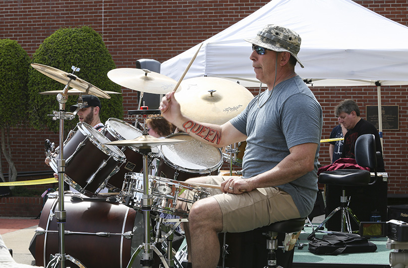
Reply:
<svg viewBox="0 0 408 268"><path fill-rule="evenodd" d="M222 125L240 114L252 93L244 86L218 77L183 80L174 97L184 116L203 123Z"/></svg>

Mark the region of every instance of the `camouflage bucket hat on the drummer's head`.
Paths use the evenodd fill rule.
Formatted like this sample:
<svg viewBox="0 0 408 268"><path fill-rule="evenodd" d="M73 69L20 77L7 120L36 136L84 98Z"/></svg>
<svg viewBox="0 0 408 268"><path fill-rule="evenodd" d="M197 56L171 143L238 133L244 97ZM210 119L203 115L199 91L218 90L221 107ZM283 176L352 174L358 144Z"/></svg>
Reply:
<svg viewBox="0 0 408 268"><path fill-rule="evenodd" d="M304 68L302 62L298 58L302 38L295 31L283 26L268 24L262 29L262 31L257 33L256 37L244 40L276 52L287 51L295 57L300 66Z"/></svg>

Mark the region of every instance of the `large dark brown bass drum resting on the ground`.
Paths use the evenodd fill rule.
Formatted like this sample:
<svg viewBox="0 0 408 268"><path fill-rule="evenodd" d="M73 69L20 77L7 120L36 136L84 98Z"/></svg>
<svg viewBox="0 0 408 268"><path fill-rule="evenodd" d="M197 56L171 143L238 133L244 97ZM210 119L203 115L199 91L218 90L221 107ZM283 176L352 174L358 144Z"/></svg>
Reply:
<svg viewBox="0 0 408 268"><path fill-rule="evenodd" d="M38 266L45 267L50 254L59 253L55 216L55 210L59 206L57 195L53 197L45 202L38 225L45 233L39 233L37 229L35 262ZM126 267L132 254L143 243L143 213L124 204L109 203L103 199L84 198L82 201L79 198L71 200L71 197L72 195L65 195L64 202L67 213L65 253L87 268ZM139 252L132 267L140 267L141 255L142 252ZM69 260L66 263L67 267L78 267ZM155 259L155 263L159 264L159 261Z"/></svg>

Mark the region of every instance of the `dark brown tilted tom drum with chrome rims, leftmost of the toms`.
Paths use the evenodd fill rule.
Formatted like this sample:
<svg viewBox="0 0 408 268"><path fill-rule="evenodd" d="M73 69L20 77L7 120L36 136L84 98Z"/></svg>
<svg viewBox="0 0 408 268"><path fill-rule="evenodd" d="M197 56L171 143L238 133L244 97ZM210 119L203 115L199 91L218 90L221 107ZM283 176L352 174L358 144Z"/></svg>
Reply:
<svg viewBox="0 0 408 268"><path fill-rule="evenodd" d="M78 192L92 197L98 188L103 188L106 181L125 162L125 154L99 131L87 123L78 123L77 131L64 142L66 160L64 180ZM57 172L57 160L52 158L50 166Z"/></svg>

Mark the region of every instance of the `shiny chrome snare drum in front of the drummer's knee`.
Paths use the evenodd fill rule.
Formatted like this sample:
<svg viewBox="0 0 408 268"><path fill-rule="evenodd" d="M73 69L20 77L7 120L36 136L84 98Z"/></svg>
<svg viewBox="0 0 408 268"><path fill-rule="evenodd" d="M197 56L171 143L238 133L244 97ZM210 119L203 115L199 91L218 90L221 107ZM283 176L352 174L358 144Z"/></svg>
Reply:
<svg viewBox="0 0 408 268"><path fill-rule="evenodd" d="M129 172L125 176L121 192L122 202L133 207L142 207L143 197L143 174ZM187 195L188 191L188 195ZM184 194L183 194L184 193ZM152 210L171 215L186 217L189 212L186 205L205 198L209 193L203 188L186 182L174 181L157 176L149 176L148 194L153 196ZM185 202L186 205L177 206L177 203Z"/></svg>

